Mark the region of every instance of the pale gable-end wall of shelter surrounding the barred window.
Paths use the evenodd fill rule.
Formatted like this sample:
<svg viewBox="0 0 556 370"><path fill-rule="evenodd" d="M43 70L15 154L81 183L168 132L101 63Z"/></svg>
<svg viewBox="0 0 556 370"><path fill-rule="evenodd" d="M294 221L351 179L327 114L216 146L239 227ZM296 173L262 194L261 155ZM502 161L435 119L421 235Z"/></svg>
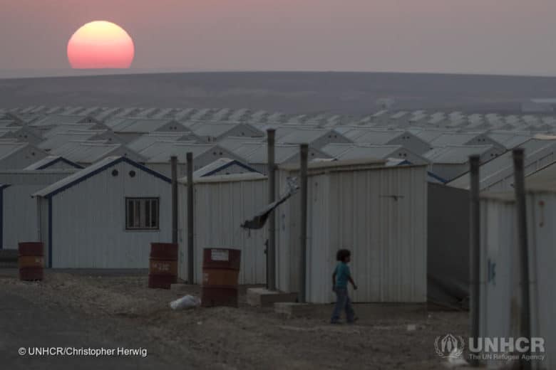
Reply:
<svg viewBox="0 0 556 370"><path fill-rule="evenodd" d="M160 197L160 230L126 231L125 197ZM126 162L61 192L52 204L53 268L148 268L150 243L172 240L170 184Z"/></svg>

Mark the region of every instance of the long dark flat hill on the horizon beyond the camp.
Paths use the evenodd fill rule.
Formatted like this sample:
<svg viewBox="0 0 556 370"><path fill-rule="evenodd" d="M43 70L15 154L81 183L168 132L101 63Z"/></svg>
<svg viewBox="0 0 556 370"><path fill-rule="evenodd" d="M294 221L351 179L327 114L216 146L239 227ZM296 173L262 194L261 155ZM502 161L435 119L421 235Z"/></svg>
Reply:
<svg viewBox="0 0 556 370"><path fill-rule="evenodd" d="M247 107L361 115L379 109L519 112L556 97L556 78L419 73L158 73L0 80L0 107Z"/></svg>

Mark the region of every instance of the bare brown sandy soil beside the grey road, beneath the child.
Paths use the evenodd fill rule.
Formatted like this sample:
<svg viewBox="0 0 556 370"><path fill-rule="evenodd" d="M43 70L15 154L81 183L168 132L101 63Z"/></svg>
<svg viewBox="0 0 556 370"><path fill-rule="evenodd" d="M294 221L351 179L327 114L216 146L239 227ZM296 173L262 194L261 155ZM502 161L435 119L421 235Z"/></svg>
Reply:
<svg viewBox="0 0 556 370"><path fill-rule="evenodd" d="M200 287L147 288L146 275L46 272L43 282L0 274L0 289L48 309L71 309L99 326L115 322L169 365L184 369L443 369L437 336L467 337L468 314L418 305L356 305L355 325L328 324L331 305L312 317L285 317L248 307L173 311L169 302ZM416 325L408 330L408 325ZM123 339L123 338L122 338ZM185 367L184 367L185 366Z"/></svg>

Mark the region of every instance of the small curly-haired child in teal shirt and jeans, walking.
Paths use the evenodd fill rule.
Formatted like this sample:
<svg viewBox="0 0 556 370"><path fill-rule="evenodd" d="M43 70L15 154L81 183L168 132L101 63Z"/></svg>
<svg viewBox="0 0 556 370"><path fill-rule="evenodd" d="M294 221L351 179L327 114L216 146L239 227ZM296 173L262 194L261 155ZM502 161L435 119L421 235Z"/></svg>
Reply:
<svg viewBox="0 0 556 370"><path fill-rule="evenodd" d="M332 290L336 293L336 305L334 306L334 312L332 312L330 323L339 324L340 314L345 310L346 321L353 324L357 317L355 316L354 308L351 306L347 283L351 282L354 290L357 290L357 285L355 285L354 280L351 278L349 266L347 265L351 260L351 252L347 249L338 250L338 253L336 253L336 260L338 260L338 264L332 274Z"/></svg>

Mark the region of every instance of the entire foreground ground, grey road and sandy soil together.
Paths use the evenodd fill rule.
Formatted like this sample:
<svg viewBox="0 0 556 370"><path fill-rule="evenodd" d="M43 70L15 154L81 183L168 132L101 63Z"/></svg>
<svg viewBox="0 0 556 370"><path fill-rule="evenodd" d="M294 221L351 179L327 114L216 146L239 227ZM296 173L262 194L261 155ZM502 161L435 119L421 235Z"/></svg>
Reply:
<svg viewBox="0 0 556 370"><path fill-rule="evenodd" d="M6 369L444 369L436 337L467 336L468 314L426 305L356 304L356 324L249 307L173 311L200 287L147 287L147 273L47 270L21 282L0 269L0 358ZM130 356L20 356L20 347L146 349Z"/></svg>

